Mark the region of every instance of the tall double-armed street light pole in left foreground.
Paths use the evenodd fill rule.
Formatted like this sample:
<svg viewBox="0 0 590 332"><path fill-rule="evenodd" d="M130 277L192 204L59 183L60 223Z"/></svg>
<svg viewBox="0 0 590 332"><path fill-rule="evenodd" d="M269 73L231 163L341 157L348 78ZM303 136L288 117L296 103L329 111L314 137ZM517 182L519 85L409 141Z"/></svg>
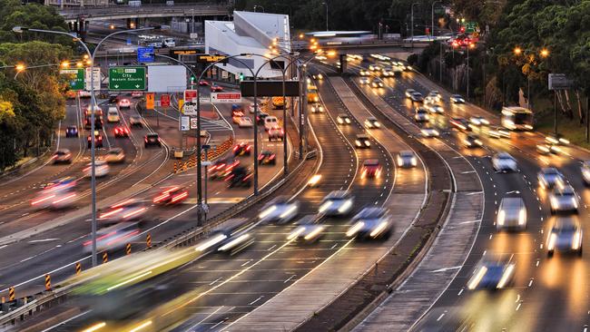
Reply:
<svg viewBox="0 0 590 332"><path fill-rule="evenodd" d="M95 142L94 142L94 108L97 107L97 103L96 103L96 97L94 96L94 57L96 56L96 53L98 51L98 49L100 48L101 44L103 44L103 42L105 40L107 40L108 38L112 37L115 34L127 34L127 33L132 33L132 32L138 32L138 31L145 31L145 30L153 30L153 29L157 29L159 27L145 27L145 28L139 28L139 29L131 29L131 30L122 30L122 31L117 31L113 34L108 34L106 35L94 48L94 52L90 52L90 50L88 49L88 46L82 41L82 39L78 38L78 36L76 34L70 34L70 33L66 33L64 31L54 31L54 30L43 30L43 29L30 29L30 28L25 28L25 27L21 27L21 26L15 26L13 28L13 31L17 34L22 34L24 31L31 31L31 32L35 32L35 33L44 33L44 34L64 34L67 35L69 37L72 37L74 39L74 41L79 42L82 47L84 47L84 51L86 52L86 54L88 54L88 56L91 58L91 63L90 63L90 97L91 97L91 112L90 112L90 131L91 131L91 151L90 151L90 162L91 162L91 190L92 190L92 204L91 204L91 210L92 210L92 242L93 242L93 257L92 257L92 264L93 267L96 266L96 173L95 173L95 165L96 165L96 155L95 155Z"/></svg>

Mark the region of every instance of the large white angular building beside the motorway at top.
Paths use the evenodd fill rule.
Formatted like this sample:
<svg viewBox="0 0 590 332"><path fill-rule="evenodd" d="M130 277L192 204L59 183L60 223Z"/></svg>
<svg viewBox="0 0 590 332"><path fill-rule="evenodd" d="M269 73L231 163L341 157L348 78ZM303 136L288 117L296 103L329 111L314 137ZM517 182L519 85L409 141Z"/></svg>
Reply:
<svg viewBox="0 0 590 332"><path fill-rule="evenodd" d="M205 53L261 54L269 58L290 53L289 26L289 15L234 11L233 21L205 21ZM230 59L228 63L216 64L221 74L213 74L235 80L241 74L251 77L248 68L256 73L264 65L258 77L277 78L282 76L280 68L288 62L282 57L268 63L261 56L240 56Z"/></svg>

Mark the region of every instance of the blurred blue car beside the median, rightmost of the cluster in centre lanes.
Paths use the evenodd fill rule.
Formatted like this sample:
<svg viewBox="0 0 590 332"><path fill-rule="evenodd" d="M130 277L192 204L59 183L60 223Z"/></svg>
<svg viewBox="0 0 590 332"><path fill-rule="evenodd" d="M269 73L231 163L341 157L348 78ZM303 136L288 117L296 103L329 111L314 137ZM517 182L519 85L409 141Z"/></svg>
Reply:
<svg viewBox="0 0 590 332"><path fill-rule="evenodd" d="M383 208L364 208L352 218L346 236L356 239L388 239L392 222L389 211Z"/></svg>

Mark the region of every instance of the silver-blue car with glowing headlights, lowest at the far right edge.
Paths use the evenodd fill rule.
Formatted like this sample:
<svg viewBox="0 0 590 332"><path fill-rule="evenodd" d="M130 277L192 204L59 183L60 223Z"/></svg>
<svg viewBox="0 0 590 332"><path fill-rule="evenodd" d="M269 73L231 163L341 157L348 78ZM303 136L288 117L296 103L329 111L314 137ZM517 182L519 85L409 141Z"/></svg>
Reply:
<svg viewBox="0 0 590 332"><path fill-rule="evenodd" d="M573 218L557 218L547 236L547 257L553 257L556 250L575 252L582 256L582 226Z"/></svg>

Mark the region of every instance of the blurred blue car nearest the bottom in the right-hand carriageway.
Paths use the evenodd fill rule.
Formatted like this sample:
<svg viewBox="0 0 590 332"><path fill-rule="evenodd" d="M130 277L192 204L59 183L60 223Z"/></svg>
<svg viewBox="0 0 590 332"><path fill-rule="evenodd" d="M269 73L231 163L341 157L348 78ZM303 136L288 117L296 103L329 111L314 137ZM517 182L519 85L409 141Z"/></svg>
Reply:
<svg viewBox="0 0 590 332"><path fill-rule="evenodd" d="M467 289L501 289L511 285L515 275L516 264L512 256L487 253L477 263Z"/></svg>

